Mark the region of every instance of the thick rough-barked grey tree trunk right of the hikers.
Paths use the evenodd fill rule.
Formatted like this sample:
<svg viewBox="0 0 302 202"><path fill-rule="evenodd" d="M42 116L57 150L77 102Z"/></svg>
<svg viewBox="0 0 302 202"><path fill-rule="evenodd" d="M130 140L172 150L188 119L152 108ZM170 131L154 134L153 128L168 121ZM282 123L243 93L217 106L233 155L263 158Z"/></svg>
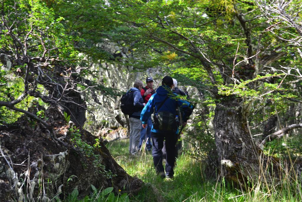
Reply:
<svg viewBox="0 0 302 202"><path fill-rule="evenodd" d="M255 146L249 134L238 99L224 98L217 104L214 131L220 176L244 188L248 180L258 180L259 173L265 172L259 169L261 150ZM263 156L263 159L267 157Z"/></svg>

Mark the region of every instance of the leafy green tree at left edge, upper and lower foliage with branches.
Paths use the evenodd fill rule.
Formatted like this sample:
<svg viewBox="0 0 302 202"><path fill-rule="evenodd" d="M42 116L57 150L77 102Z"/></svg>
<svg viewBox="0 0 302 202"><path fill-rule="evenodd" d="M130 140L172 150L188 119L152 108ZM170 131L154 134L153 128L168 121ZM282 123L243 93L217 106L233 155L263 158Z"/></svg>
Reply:
<svg viewBox="0 0 302 202"><path fill-rule="evenodd" d="M47 96L42 86L45 83L37 82L39 79L36 74L42 74L37 73L37 68L52 77L61 73L55 71L56 67L69 68L69 65L76 65L79 59L78 52L73 48L76 39L66 35L61 23L63 18L48 8L44 1L8 0L1 3L1 10L0 51L14 59L9 66L2 64L1 68L7 71L1 70L0 73L0 101L9 102L24 93L25 70L28 66L33 67L29 69L29 92L40 92ZM34 59L39 57L46 61ZM14 106L27 110L35 107L34 101L42 106L47 105L40 98L26 95L24 100ZM0 123L5 124L14 122L22 113L1 107L0 114ZM38 111L37 115L45 118L43 111Z"/></svg>

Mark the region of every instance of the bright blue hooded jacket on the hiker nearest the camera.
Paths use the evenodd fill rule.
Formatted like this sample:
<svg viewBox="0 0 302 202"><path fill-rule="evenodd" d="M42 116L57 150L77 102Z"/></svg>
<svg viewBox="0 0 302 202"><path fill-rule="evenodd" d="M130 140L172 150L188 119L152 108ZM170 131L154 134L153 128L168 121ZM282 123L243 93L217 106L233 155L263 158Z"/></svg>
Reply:
<svg viewBox="0 0 302 202"><path fill-rule="evenodd" d="M157 111L157 108L160 106L162 101L169 96L169 98L165 101L164 104L162 104L159 111ZM189 107L190 103L187 101L183 101L180 99L175 99L173 97L176 97L176 94L173 94L172 91L168 86L159 86L156 90L156 94L153 94L149 101L147 102L146 106L143 108L142 113L140 114L140 120L143 122L143 124L147 124L148 118L153 114L154 108L155 111L168 111L172 114L176 114L176 108L177 106L181 107L184 111L185 116L183 117L184 121L187 121L189 116L192 113L191 108ZM154 133L160 133L162 131L151 129Z"/></svg>

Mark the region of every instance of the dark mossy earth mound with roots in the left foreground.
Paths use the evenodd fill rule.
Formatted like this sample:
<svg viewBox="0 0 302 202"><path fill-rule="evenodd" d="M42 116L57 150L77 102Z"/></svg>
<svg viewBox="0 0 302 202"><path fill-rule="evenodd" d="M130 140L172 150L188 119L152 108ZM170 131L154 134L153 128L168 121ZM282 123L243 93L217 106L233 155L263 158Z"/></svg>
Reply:
<svg viewBox="0 0 302 202"><path fill-rule="evenodd" d="M84 197L89 195L91 184L97 188L113 186L115 192L140 190L143 182L129 176L95 136L66 124L56 108L45 114L57 138L90 150L78 152L55 143L42 124L25 115L14 124L0 126L1 201L51 201L64 198L75 188L79 197Z"/></svg>

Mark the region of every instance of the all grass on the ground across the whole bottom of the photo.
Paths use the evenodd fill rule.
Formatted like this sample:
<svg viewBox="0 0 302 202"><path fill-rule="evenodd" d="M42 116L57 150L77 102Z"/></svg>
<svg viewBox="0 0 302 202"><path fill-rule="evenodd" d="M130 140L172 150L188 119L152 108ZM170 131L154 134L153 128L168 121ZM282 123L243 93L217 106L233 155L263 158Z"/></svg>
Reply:
<svg viewBox="0 0 302 202"><path fill-rule="evenodd" d="M129 140L119 140L107 144L108 149L117 163L120 164L128 174L136 176L145 182L145 185L137 195L114 195L112 187L97 190L91 185L90 196L86 196L84 199L79 200L79 193L75 189L64 201L302 201L302 178L299 174L300 171L297 170L299 168L293 166L295 165L296 160L291 158L289 158L288 163L280 163L278 174L281 177L270 174L272 172L268 172L268 167L260 166L258 180L250 180L249 188L243 190L231 183L226 183L224 179L216 180L209 178L205 174L206 165L201 161L190 158L186 152L179 155L176 161L173 180L163 180L155 174L151 152L146 151L145 148L143 148L143 151L138 155L131 156L128 151L128 146ZM273 155L271 154L271 150L267 150L266 154L268 156ZM260 158L259 164L263 165L265 164L265 161L266 160ZM20 187L24 186L24 189L26 189L25 195L22 195L21 200L47 200L46 198L42 199L41 197L36 200L33 199L31 190L32 185L29 184L32 180L29 180L28 169L28 180L18 182L17 179L16 181L16 183L21 184ZM43 184L45 184L43 176L40 176L39 182L40 192L43 193ZM59 194L60 193L58 192L51 201L61 201L58 197Z"/></svg>

